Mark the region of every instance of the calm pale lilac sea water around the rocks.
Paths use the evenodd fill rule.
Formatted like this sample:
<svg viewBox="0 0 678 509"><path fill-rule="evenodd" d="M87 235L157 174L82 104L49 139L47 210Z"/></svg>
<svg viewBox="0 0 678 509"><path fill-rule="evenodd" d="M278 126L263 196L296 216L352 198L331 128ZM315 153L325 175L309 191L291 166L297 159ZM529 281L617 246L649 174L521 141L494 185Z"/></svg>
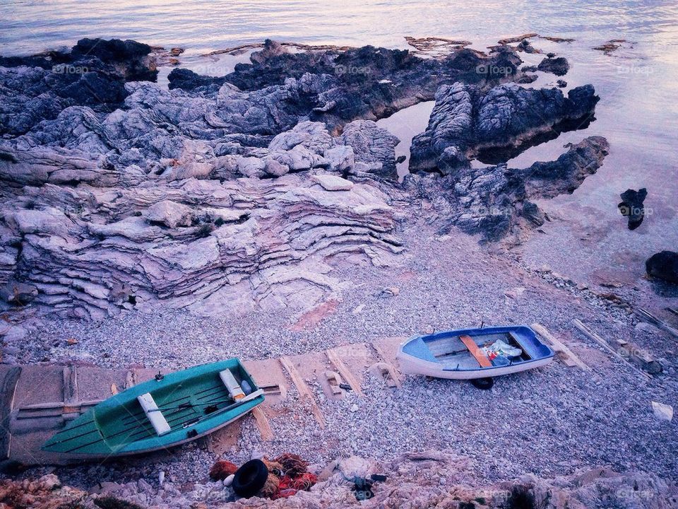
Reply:
<svg viewBox="0 0 678 509"><path fill-rule="evenodd" d="M554 158L568 141L600 134L612 152L597 175L572 196L543 204L554 221L524 247L533 264L550 263L578 278L642 274L657 250L678 250L678 3L629 0L431 1L3 1L0 53L30 54L70 47L81 37L131 38L186 48L198 55L266 37L338 45L406 47L404 36L471 40L478 49L527 32L573 37L571 43L535 40L571 62L569 86L593 83L601 101L585 131L531 148L511 165ZM629 44L613 54L592 48L610 39ZM542 57L525 55L527 63ZM223 66L222 66L223 69ZM540 77L533 86L549 86ZM424 129L430 105L399 112L382 124L407 153ZM648 216L630 232L617 211L619 193L647 187ZM610 271L614 274L610 274ZM602 276L601 276L602 274Z"/></svg>

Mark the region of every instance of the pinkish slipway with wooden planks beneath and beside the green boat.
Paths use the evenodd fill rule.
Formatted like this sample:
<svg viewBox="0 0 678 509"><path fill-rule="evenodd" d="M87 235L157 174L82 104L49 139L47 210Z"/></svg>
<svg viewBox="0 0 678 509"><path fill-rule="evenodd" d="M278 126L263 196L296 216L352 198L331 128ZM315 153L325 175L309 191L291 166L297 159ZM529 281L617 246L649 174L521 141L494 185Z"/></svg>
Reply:
<svg viewBox="0 0 678 509"><path fill-rule="evenodd" d="M266 394L266 401L252 413L261 439L275 438L272 425L272 419L278 415L275 408L281 402L290 404L287 401L290 390L299 395L302 407L299 411L310 409L318 426L323 428L326 417L318 404L320 391L329 401L343 397L345 390L361 395L364 375L375 365L383 374L386 386L397 387L401 375L392 362L399 343L389 339L378 345L358 343L330 351L244 361ZM4 424L0 429L0 460L25 465L81 462L43 452L40 447L84 411L113 394L153 378L157 371L150 368L111 370L91 365L0 365L0 419ZM241 425L241 421L236 421L208 435L201 443L217 453L228 450L237 444Z"/></svg>

